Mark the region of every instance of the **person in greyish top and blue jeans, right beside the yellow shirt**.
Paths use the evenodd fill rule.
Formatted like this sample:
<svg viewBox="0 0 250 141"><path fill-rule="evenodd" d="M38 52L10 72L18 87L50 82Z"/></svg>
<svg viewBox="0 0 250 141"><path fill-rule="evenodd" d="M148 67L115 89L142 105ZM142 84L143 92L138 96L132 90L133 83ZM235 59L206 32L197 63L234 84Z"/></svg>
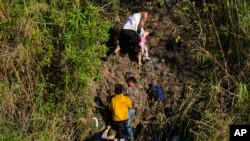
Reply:
<svg viewBox="0 0 250 141"><path fill-rule="evenodd" d="M127 79L127 91L126 94L128 95L128 97L131 99L132 104L134 105L134 107L139 107L139 104L141 99L139 97L139 91L137 89L137 81L135 79L135 77L129 77ZM133 135L133 129L132 129L132 120L135 117L135 108L130 108L129 112L128 112L128 123L127 123L127 130L128 130L128 135L130 137L131 141L134 141L134 135Z"/></svg>

